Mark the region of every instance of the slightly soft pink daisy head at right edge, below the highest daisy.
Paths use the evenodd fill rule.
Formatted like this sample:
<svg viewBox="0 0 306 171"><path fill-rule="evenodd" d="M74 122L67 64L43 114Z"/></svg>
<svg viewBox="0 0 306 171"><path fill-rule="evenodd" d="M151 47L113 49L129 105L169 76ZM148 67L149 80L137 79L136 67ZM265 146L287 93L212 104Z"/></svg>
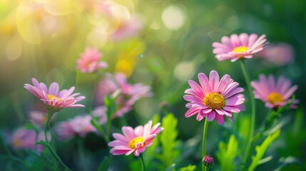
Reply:
<svg viewBox="0 0 306 171"><path fill-rule="evenodd" d="M291 81L283 76L280 76L275 83L274 76L265 77L262 74L258 81L251 81L251 86L254 88L255 98L265 102L267 108L282 107L290 103L293 93L297 90L297 86L291 86ZM295 100L290 108L296 108L296 103L298 100Z"/></svg>

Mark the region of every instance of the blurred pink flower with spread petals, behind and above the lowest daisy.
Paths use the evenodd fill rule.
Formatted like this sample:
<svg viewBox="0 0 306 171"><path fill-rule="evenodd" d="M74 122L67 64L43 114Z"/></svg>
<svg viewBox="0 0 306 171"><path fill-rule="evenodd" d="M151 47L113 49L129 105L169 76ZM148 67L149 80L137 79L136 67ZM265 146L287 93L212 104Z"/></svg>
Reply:
<svg viewBox="0 0 306 171"><path fill-rule="evenodd" d="M106 95L112 95L116 90L121 90L117 98L118 110L113 115L114 118L121 117L132 110L132 105L139 98L150 97L150 86L144 86L142 83L129 84L126 82L126 76L123 73L115 75L106 74L106 77L98 83L96 90L96 104L103 105Z"/></svg>

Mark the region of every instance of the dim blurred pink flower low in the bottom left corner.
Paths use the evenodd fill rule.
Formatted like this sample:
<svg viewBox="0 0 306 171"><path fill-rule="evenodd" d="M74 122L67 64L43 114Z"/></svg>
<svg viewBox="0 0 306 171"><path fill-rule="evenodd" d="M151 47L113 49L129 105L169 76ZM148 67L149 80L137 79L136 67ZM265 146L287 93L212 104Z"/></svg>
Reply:
<svg viewBox="0 0 306 171"><path fill-rule="evenodd" d="M50 133L47 133L48 138L51 138ZM37 136L37 142L40 140L45 141L44 132L39 133ZM14 149L31 149L35 150L36 143L36 133L35 130L27 130L25 128L18 128L14 131L14 133L10 136L10 143L14 147ZM43 145L38 145L37 150L41 152L44 150Z"/></svg>

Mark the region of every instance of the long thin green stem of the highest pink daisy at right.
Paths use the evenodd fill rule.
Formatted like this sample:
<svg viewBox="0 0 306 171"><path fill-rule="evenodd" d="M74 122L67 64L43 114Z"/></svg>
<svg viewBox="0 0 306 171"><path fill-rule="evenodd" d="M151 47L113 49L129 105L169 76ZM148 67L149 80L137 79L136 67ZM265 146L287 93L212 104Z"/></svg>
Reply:
<svg viewBox="0 0 306 171"><path fill-rule="evenodd" d="M247 147L245 150L245 161L244 161L244 165L245 167L248 165L248 157L250 155L250 149L252 147L252 140L253 140L253 135L254 135L254 128L255 128L255 98L253 95L253 91L250 85L250 78L248 77L248 73L247 70L245 68L245 61L244 60L240 60L240 66L241 69L243 70L243 76L245 77L245 83L247 84L248 87L248 91L250 94L250 101L251 101L251 123L250 123L250 133L249 133L249 137L248 137L248 142L247 142Z"/></svg>

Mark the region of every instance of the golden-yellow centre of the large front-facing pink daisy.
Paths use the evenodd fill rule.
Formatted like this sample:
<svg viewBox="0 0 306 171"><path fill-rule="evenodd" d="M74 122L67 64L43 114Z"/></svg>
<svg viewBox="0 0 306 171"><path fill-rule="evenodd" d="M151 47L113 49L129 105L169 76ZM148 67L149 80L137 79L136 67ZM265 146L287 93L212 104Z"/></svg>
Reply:
<svg viewBox="0 0 306 171"><path fill-rule="evenodd" d="M225 106L225 98L219 93L209 93L205 96L203 104L213 110L221 109Z"/></svg>

